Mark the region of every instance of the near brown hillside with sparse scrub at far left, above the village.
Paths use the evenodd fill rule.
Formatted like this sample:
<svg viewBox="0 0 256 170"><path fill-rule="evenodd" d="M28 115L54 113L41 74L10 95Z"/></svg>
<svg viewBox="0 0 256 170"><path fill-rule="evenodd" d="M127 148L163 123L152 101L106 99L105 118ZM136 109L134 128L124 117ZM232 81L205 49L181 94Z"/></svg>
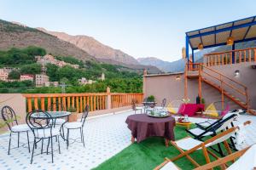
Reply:
<svg viewBox="0 0 256 170"><path fill-rule="evenodd" d="M96 60L95 57L70 42L65 42L44 31L5 20L0 20L0 39L0 50L38 46L45 48L48 53L55 56L73 56L81 60Z"/></svg>

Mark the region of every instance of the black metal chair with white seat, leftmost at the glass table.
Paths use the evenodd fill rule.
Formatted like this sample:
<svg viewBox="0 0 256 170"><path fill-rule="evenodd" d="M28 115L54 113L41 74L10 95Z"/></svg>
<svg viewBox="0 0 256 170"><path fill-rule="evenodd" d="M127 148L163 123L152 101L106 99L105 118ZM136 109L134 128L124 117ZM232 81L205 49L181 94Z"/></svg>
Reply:
<svg viewBox="0 0 256 170"><path fill-rule="evenodd" d="M30 131L30 128L26 124L20 124L20 125L18 124L15 111L8 105L3 106L1 114L2 114L3 121L7 124L10 130L8 155L10 150L12 133L18 133L18 148L20 147L20 133L26 133L28 151L30 152L29 136L28 136L28 132Z"/></svg>

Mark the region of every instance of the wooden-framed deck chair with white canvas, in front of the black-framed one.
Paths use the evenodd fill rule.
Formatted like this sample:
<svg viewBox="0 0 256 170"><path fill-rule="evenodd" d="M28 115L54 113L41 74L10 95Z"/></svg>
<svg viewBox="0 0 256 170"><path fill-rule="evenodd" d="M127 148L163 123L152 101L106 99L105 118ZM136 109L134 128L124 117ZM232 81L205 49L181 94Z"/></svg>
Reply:
<svg viewBox="0 0 256 170"><path fill-rule="evenodd" d="M244 122L241 126L242 127L247 126L250 123L251 123L250 121L247 121L247 122ZM177 150L181 152L181 154L173 157L172 159L166 158L166 161L162 162L158 167L155 167L154 169L155 170L178 169L178 167L176 167L173 161L177 161L178 159L184 156L186 156L189 159L189 161L191 161L195 165L195 167L200 167L199 163L197 163L191 156L189 156L189 154L195 152L196 150L202 150L207 163L210 163L211 161L210 161L209 154L216 159L219 159L219 157L215 155L211 150L208 150L207 148L220 143L224 143L224 146L227 152L229 153L229 155L231 155L232 151L230 150L230 146L227 140L230 139L230 136L235 135L236 132L239 132L241 126L231 127L228 130L222 133L218 133L216 136L213 136L211 139L207 139L204 142L202 142L201 140L190 138L190 137L180 139L177 141L171 141L172 145L176 147Z"/></svg>

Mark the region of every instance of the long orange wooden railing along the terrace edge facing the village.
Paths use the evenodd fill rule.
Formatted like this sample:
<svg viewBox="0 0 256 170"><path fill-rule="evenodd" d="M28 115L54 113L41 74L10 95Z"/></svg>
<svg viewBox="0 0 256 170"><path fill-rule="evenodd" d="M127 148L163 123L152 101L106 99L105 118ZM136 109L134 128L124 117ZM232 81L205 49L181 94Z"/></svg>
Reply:
<svg viewBox="0 0 256 170"><path fill-rule="evenodd" d="M89 93L89 94L23 94L26 111L67 111L74 107L82 112L85 105L90 111L100 111L131 105L131 101L142 103L143 94Z"/></svg>

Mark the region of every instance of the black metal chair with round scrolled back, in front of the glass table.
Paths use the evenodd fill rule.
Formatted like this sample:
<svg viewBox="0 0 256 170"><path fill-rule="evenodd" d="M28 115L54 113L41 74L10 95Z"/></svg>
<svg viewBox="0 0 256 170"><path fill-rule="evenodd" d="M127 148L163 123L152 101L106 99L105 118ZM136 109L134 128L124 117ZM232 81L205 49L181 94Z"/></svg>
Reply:
<svg viewBox="0 0 256 170"><path fill-rule="evenodd" d="M53 137L56 137L58 139L58 146L59 146L59 153L61 154L61 148L60 148L60 130L58 128L53 127L53 121L54 119L52 116L49 115L47 111L31 111L26 115L26 124L31 128L32 133L34 135L33 140L33 147L32 147L32 157L31 157L31 164L33 161L34 156L34 149L37 147L37 143L42 140L42 148L41 148L41 154L43 154L43 144L44 139L48 139L48 145L47 145L47 151L48 154L49 150L49 142L51 143L51 161L53 160Z"/></svg>

